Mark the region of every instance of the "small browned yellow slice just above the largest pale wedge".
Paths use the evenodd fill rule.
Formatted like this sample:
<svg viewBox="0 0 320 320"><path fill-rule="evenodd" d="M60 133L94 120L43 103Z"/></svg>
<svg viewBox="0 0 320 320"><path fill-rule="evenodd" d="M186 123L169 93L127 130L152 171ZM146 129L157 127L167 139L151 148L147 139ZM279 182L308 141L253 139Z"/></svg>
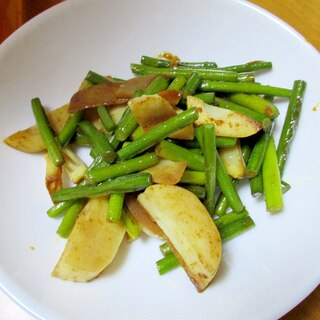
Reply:
<svg viewBox="0 0 320 320"><path fill-rule="evenodd" d="M154 183L175 185L181 180L186 167L187 162L160 159L155 166L143 171L151 174Z"/></svg>

